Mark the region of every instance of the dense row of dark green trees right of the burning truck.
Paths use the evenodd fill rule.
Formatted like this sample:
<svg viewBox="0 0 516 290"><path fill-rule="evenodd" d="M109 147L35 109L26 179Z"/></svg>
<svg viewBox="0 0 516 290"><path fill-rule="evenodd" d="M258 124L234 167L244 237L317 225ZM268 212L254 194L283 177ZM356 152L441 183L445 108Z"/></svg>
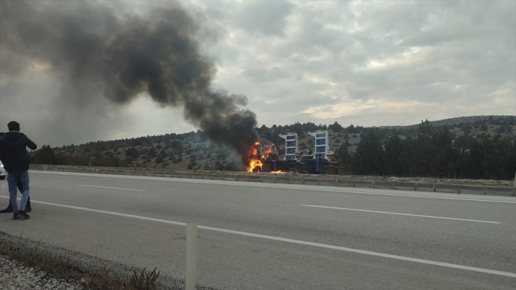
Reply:
<svg viewBox="0 0 516 290"><path fill-rule="evenodd" d="M356 152L349 153L348 146L344 143L337 154L351 174L510 180L516 171L514 138L462 135L454 140L449 130L427 121L413 137L382 139L370 131Z"/></svg>

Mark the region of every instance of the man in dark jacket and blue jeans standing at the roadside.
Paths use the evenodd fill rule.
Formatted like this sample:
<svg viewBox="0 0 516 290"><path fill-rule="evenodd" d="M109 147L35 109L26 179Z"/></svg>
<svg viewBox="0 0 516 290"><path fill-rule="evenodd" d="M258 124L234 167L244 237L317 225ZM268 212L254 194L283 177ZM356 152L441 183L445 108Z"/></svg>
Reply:
<svg viewBox="0 0 516 290"><path fill-rule="evenodd" d="M9 201L13 208L13 220L26 220L25 207L29 199L29 156L26 147L36 150L38 146L26 135L20 132L20 123L10 121L7 124L9 132L0 138L0 160L7 171L9 184ZM16 201L17 180L22 181L22 201L18 207Z"/></svg>

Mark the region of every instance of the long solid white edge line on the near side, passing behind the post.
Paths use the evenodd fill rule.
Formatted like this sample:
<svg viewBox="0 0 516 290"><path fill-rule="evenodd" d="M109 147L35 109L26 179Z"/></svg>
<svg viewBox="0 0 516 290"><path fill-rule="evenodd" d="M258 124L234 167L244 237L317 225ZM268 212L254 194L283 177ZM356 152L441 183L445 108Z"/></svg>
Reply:
<svg viewBox="0 0 516 290"><path fill-rule="evenodd" d="M0 196L0 197L4 197L4 196ZM8 198L8 197L4 197L4 198ZM150 221L150 222L161 222L161 223L164 223L164 224L175 224L175 225L183 226L183 227L186 226L185 222L174 222L172 220L162 220L162 219L153 218L153 217L143 217L141 215L130 215L130 214L127 214L127 213L116 213L116 212L112 212L112 211L100 211L100 210L93 209L93 208L82 208L82 207L79 207L79 206L67 206L67 205L64 205L64 204L54 204L54 203L45 202L45 201L34 201L34 200L32 200L31 202L36 202L38 204L47 204L49 206L60 206L60 207L63 207L63 208L77 209L77 210L80 210L80 211L90 211L90 212L93 212L93 213L103 213L103 214L106 214L106 215L116 215L116 216L120 216L120 217L130 217L130 218L135 218L135 219L138 219L138 220L147 220L147 221ZM199 225L197 227L199 229L206 229L208 231L218 231L220 233L225 233L225 234L235 234L235 235L239 235L239 236L249 236L249 237L252 237L252 238L264 238L264 239L270 240L270 241L280 241L280 242L284 242L284 243L294 243L294 244L297 244L297 245L310 245L312 247L321 247L321 248L330 249L330 250L338 250L338 251L343 251L343 252L352 252L352 253L356 253L356 254L367 254L367 255L370 255L370 256L374 256L374 257L396 259L396 260L401 260L401 261L410 261L410 262L419 263L419 264L426 264L426 265L432 265L432 266L441 266L441 267L447 267L447 268L455 268L455 269L460 269L460 270L469 270L469 271L478 272L478 273L487 273L487 274L492 274L492 275L499 275L499 276L516 278L516 273L511 273L511 272L506 272L506 271L491 270L491 269L485 269L485 268L477 268L477 267L464 266L464 265L459 265L459 264L444 263L444 262L439 262L439 261L432 261L432 260L404 257L404 256L398 256L398 255L395 255L395 254L385 254L385 253L380 253L380 252L358 250L358 249L352 249L350 247L340 247L340 246L337 246L337 245L327 245L327 244L323 244L323 243L313 243L313 242L307 242L307 241L294 240L294 239L291 239L291 238L281 238L281 237L278 237L278 236L267 236L267 235L262 235L262 234L253 234L253 233L248 233L248 232L245 232L245 231L234 231L232 229L220 229L220 228L217 228L217 227L206 227L206 226L202 226L202 225Z"/></svg>

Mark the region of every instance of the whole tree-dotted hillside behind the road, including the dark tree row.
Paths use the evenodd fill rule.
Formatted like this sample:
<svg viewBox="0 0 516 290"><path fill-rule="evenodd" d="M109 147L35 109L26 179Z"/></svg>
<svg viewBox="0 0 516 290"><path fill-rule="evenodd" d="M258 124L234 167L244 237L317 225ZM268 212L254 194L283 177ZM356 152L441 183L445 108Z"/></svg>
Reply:
<svg viewBox="0 0 516 290"><path fill-rule="evenodd" d="M331 150L347 174L510 180L516 171L516 116L469 116L418 125L369 127L294 123L262 125L261 139L284 151L280 134L296 132L300 150L313 149L308 132L328 130ZM31 153L52 165L244 170L241 154L203 132L89 142Z"/></svg>

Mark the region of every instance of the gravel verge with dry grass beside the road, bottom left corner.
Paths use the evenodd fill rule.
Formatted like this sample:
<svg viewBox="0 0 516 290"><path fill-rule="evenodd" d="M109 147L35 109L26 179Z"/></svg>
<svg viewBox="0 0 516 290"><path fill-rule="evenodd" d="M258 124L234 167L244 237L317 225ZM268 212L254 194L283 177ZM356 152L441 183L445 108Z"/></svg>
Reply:
<svg viewBox="0 0 516 290"><path fill-rule="evenodd" d="M20 258L41 255L66 261L67 269L59 266L44 268L38 263L24 261L30 259ZM0 289L105 289L88 283L89 274L109 273L110 277L125 281L135 273L135 270L139 274L143 269L0 231ZM179 290L185 289L185 284L178 277L159 275L155 289ZM217 290L203 285L197 285L197 289Z"/></svg>

